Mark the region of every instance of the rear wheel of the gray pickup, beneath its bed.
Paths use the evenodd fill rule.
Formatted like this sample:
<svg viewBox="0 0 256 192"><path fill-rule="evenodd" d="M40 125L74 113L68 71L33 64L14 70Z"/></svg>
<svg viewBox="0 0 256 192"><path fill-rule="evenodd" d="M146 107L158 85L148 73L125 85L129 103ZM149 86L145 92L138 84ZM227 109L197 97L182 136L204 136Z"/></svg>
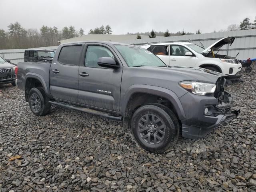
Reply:
<svg viewBox="0 0 256 192"><path fill-rule="evenodd" d="M36 116L44 116L51 110L51 104L49 98L44 93L43 88L37 87L32 88L28 94L28 104L30 110Z"/></svg>

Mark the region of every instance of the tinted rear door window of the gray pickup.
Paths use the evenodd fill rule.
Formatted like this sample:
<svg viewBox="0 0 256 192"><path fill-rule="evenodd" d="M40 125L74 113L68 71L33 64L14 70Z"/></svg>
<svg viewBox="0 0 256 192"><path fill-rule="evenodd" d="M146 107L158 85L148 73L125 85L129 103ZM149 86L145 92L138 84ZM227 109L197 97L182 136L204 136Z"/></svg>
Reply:
<svg viewBox="0 0 256 192"><path fill-rule="evenodd" d="M64 46L60 50L58 62L66 65L79 65L82 45Z"/></svg>

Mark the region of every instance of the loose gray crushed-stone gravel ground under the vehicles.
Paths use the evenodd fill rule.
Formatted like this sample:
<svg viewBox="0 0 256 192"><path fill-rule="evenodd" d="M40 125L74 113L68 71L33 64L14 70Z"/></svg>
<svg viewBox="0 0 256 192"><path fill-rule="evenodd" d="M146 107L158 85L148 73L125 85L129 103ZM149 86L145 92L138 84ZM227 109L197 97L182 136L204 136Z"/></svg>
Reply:
<svg viewBox="0 0 256 192"><path fill-rule="evenodd" d="M238 119L162 155L121 122L56 106L37 117L22 91L0 86L0 192L256 191L256 67L242 79L227 87Z"/></svg>

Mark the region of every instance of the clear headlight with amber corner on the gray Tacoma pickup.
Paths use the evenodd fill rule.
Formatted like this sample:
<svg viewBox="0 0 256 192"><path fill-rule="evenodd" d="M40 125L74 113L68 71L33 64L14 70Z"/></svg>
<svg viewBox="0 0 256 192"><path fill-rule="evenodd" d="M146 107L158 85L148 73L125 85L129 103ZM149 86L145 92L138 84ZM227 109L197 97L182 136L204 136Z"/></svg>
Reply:
<svg viewBox="0 0 256 192"><path fill-rule="evenodd" d="M216 89L215 84L193 81L182 81L180 86L196 95L213 94Z"/></svg>

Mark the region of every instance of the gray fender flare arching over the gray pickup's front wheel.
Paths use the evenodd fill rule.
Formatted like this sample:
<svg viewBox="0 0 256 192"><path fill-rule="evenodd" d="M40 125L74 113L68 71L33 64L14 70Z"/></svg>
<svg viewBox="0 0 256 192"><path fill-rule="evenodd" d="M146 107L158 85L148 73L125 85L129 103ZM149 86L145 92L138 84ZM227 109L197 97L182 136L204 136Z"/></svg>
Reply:
<svg viewBox="0 0 256 192"><path fill-rule="evenodd" d="M147 94L164 97L172 103L172 105L174 106L174 110L176 110L178 114L178 118L180 120L183 120L186 118L180 99L174 92L166 88L152 86L152 85L143 85L143 84L134 84L130 86L128 90L126 90L124 96L122 97L123 99L121 100L120 113L122 115L125 116L125 111L126 111L128 102L131 96L135 93L147 93Z"/></svg>

